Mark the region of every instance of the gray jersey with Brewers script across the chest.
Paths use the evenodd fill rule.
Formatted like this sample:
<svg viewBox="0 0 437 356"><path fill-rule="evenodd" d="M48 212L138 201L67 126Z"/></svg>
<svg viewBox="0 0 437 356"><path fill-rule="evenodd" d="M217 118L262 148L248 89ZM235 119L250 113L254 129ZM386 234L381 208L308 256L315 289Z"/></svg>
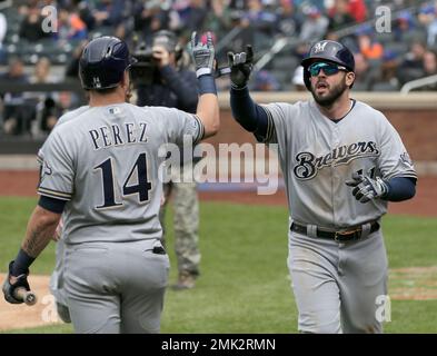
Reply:
<svg viewBox="0 0 437 356"><path fill-rule="evenodd" d="M324 117L314 100L262 106L269 118L266 142L279 145L292 220L338 229L379 218L381 199L361 204L345 185L359 171L383 179L416 178L399 135L385 116L355 101L339 122Z"/></svg>

